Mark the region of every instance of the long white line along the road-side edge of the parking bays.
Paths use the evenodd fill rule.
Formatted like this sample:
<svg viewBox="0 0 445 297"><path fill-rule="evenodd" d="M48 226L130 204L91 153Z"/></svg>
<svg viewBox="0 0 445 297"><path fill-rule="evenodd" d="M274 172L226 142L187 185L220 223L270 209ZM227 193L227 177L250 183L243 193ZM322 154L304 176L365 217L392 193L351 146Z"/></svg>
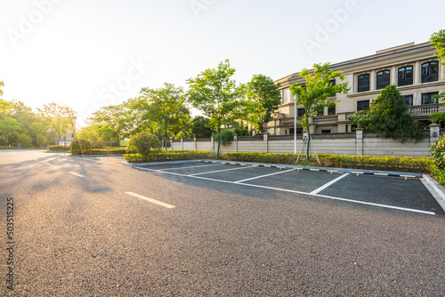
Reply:
<svg viewBox="0 0 445 297"><path fill-rule="evenodd" d="M166 172L162 172L162 171L159 171L159 170L143 168L143 167L134 167L134 168L142 169L142 170L150 171L150 172L155 172L155 173L166 173ZM291 170L293 170L293 169L291 169ZM286 172L279 172L279 173L286 173ZM271 188L271 187L254 185L254 184L249 184L249 183L240 183L239 181L215 180L215 179L205 178L205 177L202 177L202 176L188 176L188 175L180 174L180 173L166 173L166 174L178 175L178 176L189 177L189 178L192 178L192 179L206 180L206 181L218 181L218 182L223 182L223 183L236 184L236 185L240 185L240 186L247 186L247 187L254 187L254 188L261 188L261 189L271 189L271 190L276 190L276 191L295 193L295 194L302 194L302 195L308 195L308 196L313 196L313 197L322 197L322 198L328 198L328 199L332 199L332 200L339 200L339 201L344 201L344 202L356 203L356 204L360 204L360 205L371 205L371 206L377 206L377 207L382 207L382 208L395 209L395 210L400 210L400 211L405 211L405 212L410 212L410 213L423 213L423 214L435 215L435 213L433 213L433 212L425 212L425 211L421 211L421 210L417 210L417 209L404 208L404 207L398 207L398 206L392 206L392 205L379 205L379 204L375 204L375 203L369 203L369 202L364 202L364 201L357 201L357 200L352 200L352 199L345 199L345 198L340 198L340 197L330 197L330 196L319 195L319 194L311 194L311 193L306 193L306 192L301 192L301 191L295 191L295 190L292 190L292 189Z"/></svg>

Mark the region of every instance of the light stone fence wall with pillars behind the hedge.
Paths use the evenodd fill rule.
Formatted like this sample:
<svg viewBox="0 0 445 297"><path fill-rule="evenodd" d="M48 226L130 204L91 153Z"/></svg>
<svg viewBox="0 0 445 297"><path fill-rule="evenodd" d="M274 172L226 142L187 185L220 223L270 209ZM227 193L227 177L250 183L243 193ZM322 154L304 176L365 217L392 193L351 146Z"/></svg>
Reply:
<svg viewBox="0 0 445 297"><path fill-rule="evenodd" d="M425 140L415 143L401 143L397 140L383 139L375 132L358 130L350 133L329 133L312 135L311 153L368 156L413 156L430 157L429 148L441 135L440 126L431 124ZM213 139L173 140L171 149L216 151L217 142ZM221 147L228 152L264 152L264 153L305 153L303 134L294 135L237 137Z"/></svg>

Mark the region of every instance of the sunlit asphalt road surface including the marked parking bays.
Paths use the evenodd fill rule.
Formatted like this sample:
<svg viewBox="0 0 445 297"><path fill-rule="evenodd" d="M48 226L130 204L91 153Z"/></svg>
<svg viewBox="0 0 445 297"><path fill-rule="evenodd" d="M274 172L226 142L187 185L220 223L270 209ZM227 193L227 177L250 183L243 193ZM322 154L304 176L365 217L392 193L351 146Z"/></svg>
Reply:
<svg viewBox="0 0 445 297"><path fill-rule="evenodd" d="M0 295L445 296L418 179L121 162L0 151Z"/></svg>

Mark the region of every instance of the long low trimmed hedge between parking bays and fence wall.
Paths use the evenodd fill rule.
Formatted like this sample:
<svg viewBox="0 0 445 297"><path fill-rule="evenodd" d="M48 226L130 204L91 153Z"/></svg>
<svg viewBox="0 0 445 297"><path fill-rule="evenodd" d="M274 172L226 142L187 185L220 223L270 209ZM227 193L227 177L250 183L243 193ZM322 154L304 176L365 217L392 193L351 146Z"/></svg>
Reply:
<svg viewBox="0 0 445 297"><path fill-rule="evenodd" d="M150 153L144 157L141 154L127 154L124 158L129 163L162 162L174 160L221 159L238 162L254 162L267 164L295 165L295 154L267 154L267 153L226 153L216 157L214 152L208 151L167 151ZM344 156L319 155L320 166L351 168L364 170L397 171L410 173L431 173L433 159L430 157L374 157L374 156ZM301 155L298 165L319 166L315 157L310 161Z"/></svg>

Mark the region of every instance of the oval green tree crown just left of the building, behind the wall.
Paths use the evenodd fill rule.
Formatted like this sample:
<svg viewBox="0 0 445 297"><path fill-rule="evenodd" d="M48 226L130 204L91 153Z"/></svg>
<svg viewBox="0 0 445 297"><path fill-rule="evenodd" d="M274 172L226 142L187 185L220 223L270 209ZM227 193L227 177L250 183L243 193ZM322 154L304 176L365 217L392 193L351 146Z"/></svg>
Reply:
<svg viewBox="0 0 445 297"><path fill-rule="evenodd" d="M271 77L255 75L247 83L245 115L248 123L258 132L264 132L264 124L272 120L272 113L281 104L279 85Z"/></svg>

